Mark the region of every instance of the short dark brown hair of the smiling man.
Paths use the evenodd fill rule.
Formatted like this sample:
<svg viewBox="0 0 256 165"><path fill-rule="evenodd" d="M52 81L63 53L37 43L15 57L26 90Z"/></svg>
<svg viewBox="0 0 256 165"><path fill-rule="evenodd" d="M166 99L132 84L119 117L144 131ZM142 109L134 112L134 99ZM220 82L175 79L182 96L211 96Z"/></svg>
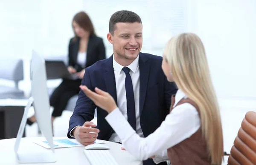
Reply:
<svg viewBox="0 0 256 165"><path fill-rule="evenodd" d="M116 11L110 17L108 29L109 32L114 35L114 31L116 30L116 23L141 23L140 16L132 11L128 10L120 10Z"/></svg>

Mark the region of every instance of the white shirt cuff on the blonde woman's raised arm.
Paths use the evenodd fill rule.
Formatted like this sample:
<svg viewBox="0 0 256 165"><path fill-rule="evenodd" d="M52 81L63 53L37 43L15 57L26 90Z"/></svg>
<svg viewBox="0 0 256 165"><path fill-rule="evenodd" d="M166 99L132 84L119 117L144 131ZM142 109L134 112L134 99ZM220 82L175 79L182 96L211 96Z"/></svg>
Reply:
<svg viewBox="0 0 256 165"><path fill-rule="evenodd" d="M126 141L135 132L118 107L108 114L105 119L120 137L122 142Z"/></svg>

